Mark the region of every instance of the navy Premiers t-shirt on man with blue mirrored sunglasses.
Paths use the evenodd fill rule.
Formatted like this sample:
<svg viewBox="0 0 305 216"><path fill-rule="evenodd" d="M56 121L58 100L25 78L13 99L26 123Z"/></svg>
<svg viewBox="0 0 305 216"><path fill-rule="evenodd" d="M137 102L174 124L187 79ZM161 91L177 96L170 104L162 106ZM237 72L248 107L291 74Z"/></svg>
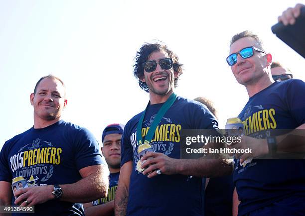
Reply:
<svg viewBox="0 0 305 216"><path fill-rule="evenodd" d="M305 123L305 83L292 79L275 82L249 98L238 116L245 134L256 138L273 129L294 129ZM241 204L239 215L267 206L296 193L305 196L305 160L235 160L234 183Z"/></svg>

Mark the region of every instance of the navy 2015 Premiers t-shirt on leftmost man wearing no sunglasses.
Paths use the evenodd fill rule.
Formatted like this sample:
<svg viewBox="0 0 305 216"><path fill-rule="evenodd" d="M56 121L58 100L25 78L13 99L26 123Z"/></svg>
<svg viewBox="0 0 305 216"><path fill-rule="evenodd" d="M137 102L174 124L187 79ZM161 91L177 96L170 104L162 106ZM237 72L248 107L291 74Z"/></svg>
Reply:
<svg viewBox="0 0 305 216"><path fill-rule="evenodd" d="M105 162L93 134L59 120L45 128L32 127L5 142L0 152L0 181L22 176L29 187L72 184L82 179L80 169L97 164ZM84 215L84 209L82 204L50 200L36 205L35 214Z"/></svg>

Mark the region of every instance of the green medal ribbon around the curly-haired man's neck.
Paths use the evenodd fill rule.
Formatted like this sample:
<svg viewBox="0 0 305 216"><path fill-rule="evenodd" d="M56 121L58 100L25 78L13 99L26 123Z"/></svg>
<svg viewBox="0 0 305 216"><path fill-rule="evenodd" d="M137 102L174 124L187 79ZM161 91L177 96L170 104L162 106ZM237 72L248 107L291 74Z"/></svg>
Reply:
<svg viewBox="0 0 305 216"><path fill-rule="evenodd" d="M155 132L155 129L157 127L157 125L160 123L160 120L162 119L162 117L164 116L165 112L172 106L172 104L175 102L176 100L176 94L172 93L171 96L169 96L169 98L166 100L166 102L162 105L162 107L159 109L159 111L157 112L155 118L152 121L152 125L147 133L147 135L145 136L145 141L144 143L150 143L152 141L152 136ZM149 103L150 104L150 103ZM139 143L139 145L142 145L144 143L143 142L143 138L142 138L142 124L143 124L143 120L144 120L144 116L145 116L145 112L149 106L149 104L147 105L147 107L145 108L145 110L143 111L141 118L139 120L138 126L137 126L137 141Z"/></svg>

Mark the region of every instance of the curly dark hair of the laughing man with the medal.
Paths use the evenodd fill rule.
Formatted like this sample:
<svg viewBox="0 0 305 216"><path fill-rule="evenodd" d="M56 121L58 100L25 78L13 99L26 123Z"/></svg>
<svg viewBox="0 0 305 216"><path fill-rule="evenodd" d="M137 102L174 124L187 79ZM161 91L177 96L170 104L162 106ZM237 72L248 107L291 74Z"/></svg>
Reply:
<svg viewBox="0 0 305 216"><path fill-rule="evenodd" d="M150 92L150 90L146 82L141 81L141 79L144 77L143 63L148 61L149 56L153 52L161 50L167 52L169 58L172 59L173 70L177 74L177 77L174 79L174 87L177 87L179 76L182 74L182 64L178 62L178 56L168 49L166 45L161 45L158 43L145 43L137 52L135 57L136 64L134 65L134 76L138 79L139 86L146 92Z"/></svg>

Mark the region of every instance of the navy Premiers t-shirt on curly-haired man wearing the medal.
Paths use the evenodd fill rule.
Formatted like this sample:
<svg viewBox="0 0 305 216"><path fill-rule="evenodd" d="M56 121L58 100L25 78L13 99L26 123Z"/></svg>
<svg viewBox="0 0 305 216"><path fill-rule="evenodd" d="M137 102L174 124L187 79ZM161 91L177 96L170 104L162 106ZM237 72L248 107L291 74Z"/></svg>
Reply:
<svg viewBox="0 0 305 216"><path fill-rule="evenodd" d="M150 105L142 124L146 134L163 104ZM203 216L205 179L184 175L159 175L154 178L139 173L137 125L142 112L125 126L121 143L122 161L133 161L129 186L127 215L129 216ZM214 115L201 103L177 97L158 124L151 143L155 152L180 158L181 129L218 128Z"/></svg>

